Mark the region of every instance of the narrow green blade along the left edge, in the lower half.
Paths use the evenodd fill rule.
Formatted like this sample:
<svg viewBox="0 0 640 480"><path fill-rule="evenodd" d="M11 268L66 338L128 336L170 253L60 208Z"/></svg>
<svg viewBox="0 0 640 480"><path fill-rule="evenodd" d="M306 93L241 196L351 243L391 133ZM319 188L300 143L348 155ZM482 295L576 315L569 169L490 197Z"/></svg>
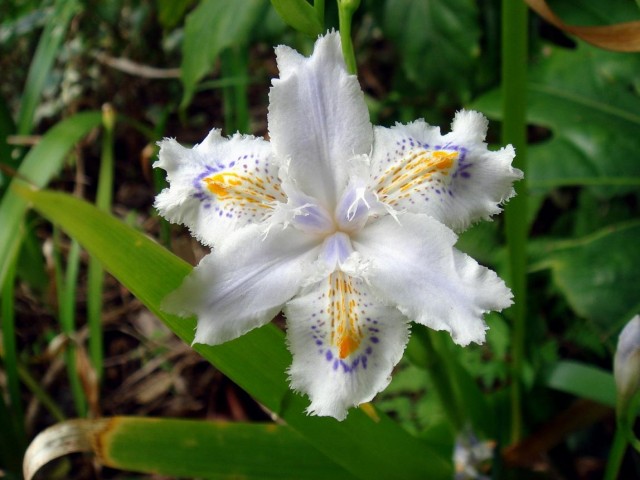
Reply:
<svg viewBox="0 0 640 480"><path fill-rule="evenodd" d="M0 331L2 331L2 357L7 375L7 389L11 405L11 421L19 443L24 445L24 411L18 381L18 353L16 348L14 285L17 257L11 262L2 289L2 310L0 311Z"/></svg>

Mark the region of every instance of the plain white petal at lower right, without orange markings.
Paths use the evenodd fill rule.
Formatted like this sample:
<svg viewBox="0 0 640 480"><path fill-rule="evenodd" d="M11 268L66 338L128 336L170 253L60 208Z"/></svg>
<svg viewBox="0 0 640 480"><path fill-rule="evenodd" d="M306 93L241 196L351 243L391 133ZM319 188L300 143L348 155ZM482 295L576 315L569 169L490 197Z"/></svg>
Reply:
<svg viewBox="0 0 640 480"><path fill-rule="evenodd" d="M453 246L456 235L420 214L387 216L353 238L369 260L366 279L410 320L446 330L460 345L482 343L482 315L511 305L511 291L491 270Z"/></svg>

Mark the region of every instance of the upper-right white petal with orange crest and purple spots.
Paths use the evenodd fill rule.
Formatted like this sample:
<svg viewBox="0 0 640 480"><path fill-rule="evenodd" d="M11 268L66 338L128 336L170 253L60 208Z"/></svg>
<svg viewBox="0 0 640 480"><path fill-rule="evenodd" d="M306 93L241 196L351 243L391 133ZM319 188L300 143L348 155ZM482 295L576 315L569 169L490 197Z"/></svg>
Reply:
<svg viewBox="0 0 640 480"><path fill-rule="evenodd" d="M370 188L396 210L426 213L461 231L499 213L522 178L511 167L511 145L487 150L485 117L460 111L452 131L422 120L392 128L376 127Z"/></svg>

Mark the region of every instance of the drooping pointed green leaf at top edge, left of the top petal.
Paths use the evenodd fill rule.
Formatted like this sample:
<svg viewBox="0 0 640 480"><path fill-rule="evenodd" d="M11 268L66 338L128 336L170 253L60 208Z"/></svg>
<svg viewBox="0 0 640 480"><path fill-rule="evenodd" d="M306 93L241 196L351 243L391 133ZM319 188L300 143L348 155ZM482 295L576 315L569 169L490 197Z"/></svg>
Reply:
<svg viewBox="0 0 640 480"><path fill-rule="evenodd" d="M182 43L180 78L186 108L198 81L211 70L225 48L243 44L268 4L263 0L203 0L187 15Z"/></svg>

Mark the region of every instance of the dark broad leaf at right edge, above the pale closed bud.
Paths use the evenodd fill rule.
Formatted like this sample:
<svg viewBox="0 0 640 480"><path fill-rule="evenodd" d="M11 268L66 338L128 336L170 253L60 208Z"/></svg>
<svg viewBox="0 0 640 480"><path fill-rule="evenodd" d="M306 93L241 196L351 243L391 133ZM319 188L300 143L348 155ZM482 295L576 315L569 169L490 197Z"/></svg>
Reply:
<svg viewBox="0 0 640 480"><path fill-rule="evenodd" d="M577 240L549 243L539 268L550 268L553 282L573 310L611 334L640 308L640 222L604 228Z"/></svg>

